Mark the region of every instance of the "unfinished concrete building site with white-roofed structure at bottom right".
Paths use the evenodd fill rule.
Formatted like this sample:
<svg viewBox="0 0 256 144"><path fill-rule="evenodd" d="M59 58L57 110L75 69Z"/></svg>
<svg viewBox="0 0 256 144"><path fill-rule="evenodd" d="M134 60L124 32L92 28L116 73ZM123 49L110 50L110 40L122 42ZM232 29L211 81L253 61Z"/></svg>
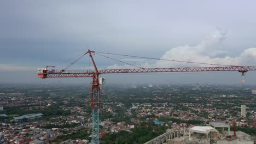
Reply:
<svg viewBox="0 0 256 144"><path fill-rule="evenodd" d="M216 128L222 129L220 132ZM192 126L188 129L168 129L155 139L145 144L253 144L251 136L243 131L230 131L229 125L220 122L210 122L210 126Z"/></svg>

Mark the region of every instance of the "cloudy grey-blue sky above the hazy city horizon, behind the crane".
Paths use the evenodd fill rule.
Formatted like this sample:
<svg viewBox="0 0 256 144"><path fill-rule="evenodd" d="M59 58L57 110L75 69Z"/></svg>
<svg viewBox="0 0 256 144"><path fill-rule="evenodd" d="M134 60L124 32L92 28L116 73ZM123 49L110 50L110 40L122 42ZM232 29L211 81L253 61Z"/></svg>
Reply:
<svg viewBox="0 0 256 144"><path fill-rule="evenodd" d="M255 1L0 1L0 83L39 79L88 49L228 65L256 65ZM107 55L143 68L207 67ZM95 55L98 69L136 68ZM92 69L84 56L70 69ZM239 73L103 75L109 82L239 83ZM255 72L246 82L254 84Z"/></svg>

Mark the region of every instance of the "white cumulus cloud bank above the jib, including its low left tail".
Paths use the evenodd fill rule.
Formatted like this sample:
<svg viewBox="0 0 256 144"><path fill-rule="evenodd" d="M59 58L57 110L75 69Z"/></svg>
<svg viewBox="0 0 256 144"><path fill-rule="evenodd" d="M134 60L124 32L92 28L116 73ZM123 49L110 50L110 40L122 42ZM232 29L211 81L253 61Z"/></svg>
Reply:
<svg viewBox="0 0 256 144"><path fill-rule="evenodd" d="M182 63L172 61L158 60L154 63L144 61L143 59L122 59L123 61L133 64L136 63L141 68L170 68L170 67L214 67L218 65L206 65L198 63L211 63L211 64L223 64L223 65L241 65L241 66L255 66L256 62L256 48L248 48L243 50L238 56L228 56L228 51L219 49L222 42L225 40L226 31L217 29L217 31L206 40L202 40L201 43L195 46L183 45L173 47L160 57L160 59L170 59L176 61L195 62ZM107 69L127 69L136 68L127 64L114 64L108 66Z"/></svg>

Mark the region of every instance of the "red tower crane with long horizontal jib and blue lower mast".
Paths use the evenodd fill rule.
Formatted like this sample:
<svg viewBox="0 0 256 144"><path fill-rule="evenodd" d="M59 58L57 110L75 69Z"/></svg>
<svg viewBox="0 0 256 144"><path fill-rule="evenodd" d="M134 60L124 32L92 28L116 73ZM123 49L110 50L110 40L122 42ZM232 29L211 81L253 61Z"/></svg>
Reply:
<svg viewBox="0 0 256 144"><path fill-rule="evenodd" d="M71 67L75 62L77 62L80 58L82 58L84 55L88 54L91 58L92 64L94 65L95 70L67 70L67 68ZM90 99L90 105L92 109L92 124L91 124L91 136L92 140L91 143L98 143L99 137L98 137L98 127L99 127L99 120L100 120L100 112L101 109L101 88L100 85L104 84L105 80L104 78L100 78L100 74L123 74L123 73L177 73L177 72L200 72L200 71L238 71L244 75L249 70L256 70L256 67L251 66L236 66L236 65L224 65L224 64L210 64L210 65L218 65L221 67L186 67L186 68L141 68L138 67L137 69L102 69L98 70L97 66L94 62L94 58L92 57L93 54L101 55L100 53L104 52L95 52L88 50L83 56L79 57L77 60L75 60L73 63L69 64L65 69L62 69L61 71L56 70L48 70L49 67L54 68L54 66L47 66L46 69L38 69L37 74L38 77L41 77L42 79L46 78L54 78L54 77L92 77L92 87L91 87L91 99ZM110 55L119 55L114 53L106 53ZM101 55L103 56L103 55ZM120 55L120 56L129 56L129 55ZM103 56L106 57L106 56ZM138 57L138 56L129 56L129 57L137 57L137 58L148 58L148 57ZM110 57L106 57L110 58ZM115 61L119 61L114 58L110 58ZM185 61L176 61L176 60L170 60L170 59L159 59L159 58L151 58L151 59L158 59L158 60L164 60L164 61L172 61L172 62L185 62ZM121 62L121 61L119 61ZM125 62L123 62L125 63ZM195 63L195 62L185 62L185 63ZM128 64L128 63L126 63ZM209 63L197 63L197 64L209 64ZM132 64L130 64L132 65ZM137 67L136 65L133 65Z"/></svg>

